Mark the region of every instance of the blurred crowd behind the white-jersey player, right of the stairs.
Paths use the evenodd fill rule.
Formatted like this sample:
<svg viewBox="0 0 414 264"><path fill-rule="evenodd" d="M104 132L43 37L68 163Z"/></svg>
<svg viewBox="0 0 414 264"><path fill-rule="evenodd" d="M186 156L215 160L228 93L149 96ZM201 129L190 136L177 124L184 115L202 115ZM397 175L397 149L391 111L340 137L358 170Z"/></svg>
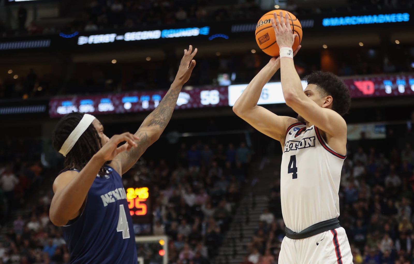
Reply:
<svg viewBox="0 0 414 264"><path fill-rule="evenodd" d="M389 130L379 142L352 143L355 151L349 149L344 161L339 221L354 264L414 264L414 132L400 132ZM277 179L243 264L277 264L284 235Z"/></svg>

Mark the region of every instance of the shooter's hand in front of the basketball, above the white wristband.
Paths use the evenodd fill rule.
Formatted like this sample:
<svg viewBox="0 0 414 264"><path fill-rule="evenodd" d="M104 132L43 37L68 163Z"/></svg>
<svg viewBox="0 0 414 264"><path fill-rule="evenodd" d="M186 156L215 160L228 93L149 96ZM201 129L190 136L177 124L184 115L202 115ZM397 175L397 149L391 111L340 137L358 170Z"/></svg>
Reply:
<svg viewBox="0 0 414 264"><path fill-rule="evenodd" d="M274 12L273 18L270 19L274 29L274 34L276 35L277 44L279 47L291 48L295 42L295 38L298 37L298 34L293 34L288 14L285 14L285 17L283 17L283 12L281 11L279 13L279 17L280 21L277 19L276 12Z"/></svg>

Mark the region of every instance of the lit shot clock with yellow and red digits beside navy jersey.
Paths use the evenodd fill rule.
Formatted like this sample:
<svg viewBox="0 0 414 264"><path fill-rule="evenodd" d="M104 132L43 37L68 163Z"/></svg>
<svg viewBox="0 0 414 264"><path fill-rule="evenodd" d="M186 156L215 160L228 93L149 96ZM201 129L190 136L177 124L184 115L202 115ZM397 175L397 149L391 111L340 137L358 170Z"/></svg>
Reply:
<svg viewBox="0 0 414 264"><path fill-rule="evenodd" d="M128 209L134 224L135 235L152 234L152 190L149 186L125 188Z"/></svg>

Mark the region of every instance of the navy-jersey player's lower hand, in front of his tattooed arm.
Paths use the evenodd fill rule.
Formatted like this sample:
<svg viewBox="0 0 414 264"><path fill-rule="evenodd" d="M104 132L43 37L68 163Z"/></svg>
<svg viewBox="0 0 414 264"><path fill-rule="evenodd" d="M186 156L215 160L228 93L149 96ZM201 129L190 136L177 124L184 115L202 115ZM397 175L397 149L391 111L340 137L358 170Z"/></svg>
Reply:
<svg viewBox="0 0 414 264"><path fill-rule="evenodd" d="M109 139L108 142L106 142L105 145L102 146L102 148L96 153L96 155L103 161L111 161L116 157L116 155L120 154L122 151L128 151L133 146L136 147L137 143L135 142L135 140L138 139L139 137L129 132L125 132L120 135L114 135L113 137L111 137L111 139ZM126 141L126 143L118 147L118 144L124 141Z"/></svg>

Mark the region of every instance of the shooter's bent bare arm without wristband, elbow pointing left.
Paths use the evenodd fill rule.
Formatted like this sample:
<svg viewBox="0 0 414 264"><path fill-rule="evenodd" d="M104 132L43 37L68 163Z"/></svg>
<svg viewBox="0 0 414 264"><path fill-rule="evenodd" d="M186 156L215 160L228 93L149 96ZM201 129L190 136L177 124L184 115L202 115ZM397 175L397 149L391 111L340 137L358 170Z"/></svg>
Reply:
<svg viewBox="0 0 414 264"><path fill-rule="evenodd" d="M287 127L296 122L296 119L276 115L266 108L257 105L263 86L269 82L279 68L280 58L272 58L252 79L237 99L233 106L233 111L255 129L283 144Z"/></svg>

